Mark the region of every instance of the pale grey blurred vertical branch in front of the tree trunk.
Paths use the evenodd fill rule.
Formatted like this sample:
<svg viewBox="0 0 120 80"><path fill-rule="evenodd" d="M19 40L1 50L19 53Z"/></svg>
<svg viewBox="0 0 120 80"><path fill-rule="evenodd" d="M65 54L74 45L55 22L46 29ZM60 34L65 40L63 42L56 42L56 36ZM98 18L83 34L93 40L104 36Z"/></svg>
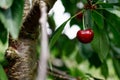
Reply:
<svg viewBox="0 0 120 80"><path fill-rule="evenodd" d="M40 1L41 18L39 24L41 27L41 54L38 66L37 80L46 80L47 61L49 58L48 36L47 36L47 6L44 1Z"/></svg>

